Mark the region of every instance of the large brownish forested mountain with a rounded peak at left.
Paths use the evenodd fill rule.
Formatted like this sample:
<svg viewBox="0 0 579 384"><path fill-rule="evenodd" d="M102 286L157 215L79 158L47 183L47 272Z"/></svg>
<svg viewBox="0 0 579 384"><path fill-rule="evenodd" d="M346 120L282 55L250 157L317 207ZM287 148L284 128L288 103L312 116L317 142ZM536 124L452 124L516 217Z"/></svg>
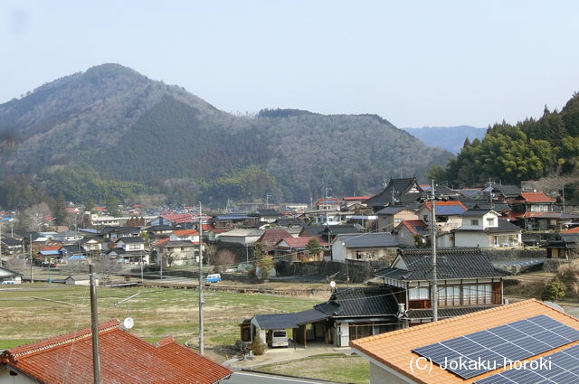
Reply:
<svg viewBox="0 0 579 384"><path fill-rule="evenodd" d="M103 64L0 105L0 205L39 194L104 201L164 193L169 202L276 201L368 193L421 176L450 153L373 115L220 111L177 86ZM24 199L24 201L22 201Z"/></svg>

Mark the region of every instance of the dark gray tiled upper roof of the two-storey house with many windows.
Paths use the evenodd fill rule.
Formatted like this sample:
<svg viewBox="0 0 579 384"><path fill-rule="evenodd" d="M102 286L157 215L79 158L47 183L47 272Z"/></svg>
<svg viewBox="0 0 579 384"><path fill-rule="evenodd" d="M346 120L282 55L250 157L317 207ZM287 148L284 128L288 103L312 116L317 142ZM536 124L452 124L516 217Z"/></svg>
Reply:
<svg viewBox="0 0 579 384"><path fill-rule="evenodd" d="M432 278L430 248L406 248L400 250L399 255L407 270L388 267L378 271L376 276L401 281L426 281ZM480 248L439 248L436 265L441 280L507 276L505 272L493 267Z"/></svg>

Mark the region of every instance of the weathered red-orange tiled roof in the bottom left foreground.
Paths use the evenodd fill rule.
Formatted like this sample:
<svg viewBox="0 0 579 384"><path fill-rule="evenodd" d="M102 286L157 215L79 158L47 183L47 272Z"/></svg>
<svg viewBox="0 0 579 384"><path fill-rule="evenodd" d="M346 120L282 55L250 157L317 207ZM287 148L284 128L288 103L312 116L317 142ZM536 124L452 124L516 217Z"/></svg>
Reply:
<svg viewBox="0 0 579 384"><path fill-rule="evenodd" d="M93 382L90 328L5 350L0 382L85 384ZM172 336L149 344L123 331L118 320L99 326L102 384L215 384L232 373L176 343Z"/></svg>

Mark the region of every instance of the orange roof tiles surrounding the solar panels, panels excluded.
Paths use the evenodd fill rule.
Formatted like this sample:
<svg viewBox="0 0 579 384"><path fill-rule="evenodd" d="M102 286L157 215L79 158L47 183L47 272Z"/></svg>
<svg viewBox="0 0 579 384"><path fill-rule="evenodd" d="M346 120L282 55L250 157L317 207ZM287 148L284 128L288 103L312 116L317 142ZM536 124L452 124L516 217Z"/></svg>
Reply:
<svg viewBox="0 0 579 384"><path fill-rule="evenodd" d="M472 383L476 380L499 373L503 371L503 368L492 370L471 379L461 379L448 370L442 370L441 367L436 364L432 364L432 370L414 369L412 371L411 360L415 360L420 356L412 350L434 342L443 342L472 332L479 332L498 325L527 319L537 314L545 314L557 322L564 323L579 330L579 319L568 314L563 314L546 304L531 299L515 304L497 306L472 314L452 317L436 323L425 323L411 328L365 337L350 342L350 347L356 351L360 351L366 357L384 364L388 368L419 383ZM538 354L527 360L535 360L576 344L579 344L579 342L566 344L563 347Z"/></svg>

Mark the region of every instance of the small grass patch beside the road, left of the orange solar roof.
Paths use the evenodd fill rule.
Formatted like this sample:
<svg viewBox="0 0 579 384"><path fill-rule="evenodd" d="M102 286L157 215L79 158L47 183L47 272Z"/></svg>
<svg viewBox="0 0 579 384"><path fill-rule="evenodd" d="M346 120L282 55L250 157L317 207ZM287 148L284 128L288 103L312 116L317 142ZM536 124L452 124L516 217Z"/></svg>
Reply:
<svg viewBox="0 0 579 384"><path fill-rule="evenodd" d="M312 356L299 361L284 361L270 364L255 370L282 375L299 376L308 379L369 384L370 366L359 356L330 354Z"/></svg>

